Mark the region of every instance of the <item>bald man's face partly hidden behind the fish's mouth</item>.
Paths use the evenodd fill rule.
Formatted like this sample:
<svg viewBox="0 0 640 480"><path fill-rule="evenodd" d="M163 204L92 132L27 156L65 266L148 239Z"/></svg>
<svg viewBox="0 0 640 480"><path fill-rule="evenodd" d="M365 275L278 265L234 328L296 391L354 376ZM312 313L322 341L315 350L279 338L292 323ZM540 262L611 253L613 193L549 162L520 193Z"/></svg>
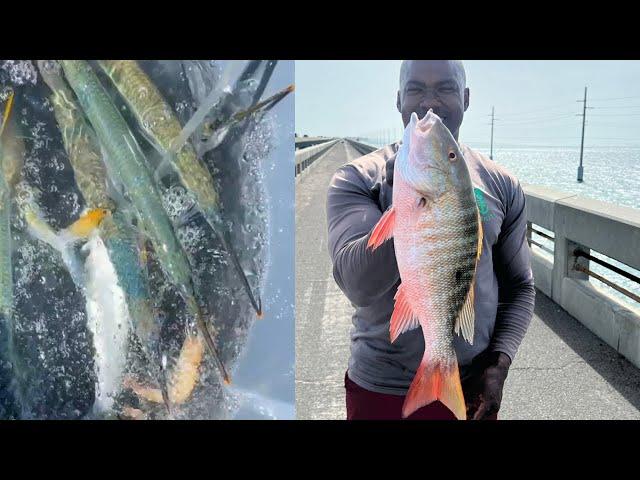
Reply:
<svg viewBox="0 0 640 480"><path fill-rule="evenodd" d="M469 106L469 89L461 82L449 61L411 61L397 100L404 126L409 124L411 113L416 112L422 118L433 109L457 140Z"/></svg>

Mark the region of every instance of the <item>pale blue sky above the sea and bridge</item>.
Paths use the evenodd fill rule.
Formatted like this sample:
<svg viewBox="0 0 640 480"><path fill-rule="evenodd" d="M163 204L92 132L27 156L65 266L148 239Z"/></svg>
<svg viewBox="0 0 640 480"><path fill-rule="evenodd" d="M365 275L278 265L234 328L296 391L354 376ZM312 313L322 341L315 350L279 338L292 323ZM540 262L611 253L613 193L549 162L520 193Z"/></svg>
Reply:
<svg viewBox="0 0 640 480"><path fill-rule="evenodd" d="M488 145L579 146L588 87L585 146L640 146L640 61L470 60L471 90L460 140ZM397 138L399 60L296 61L296 132Z"/></svg>

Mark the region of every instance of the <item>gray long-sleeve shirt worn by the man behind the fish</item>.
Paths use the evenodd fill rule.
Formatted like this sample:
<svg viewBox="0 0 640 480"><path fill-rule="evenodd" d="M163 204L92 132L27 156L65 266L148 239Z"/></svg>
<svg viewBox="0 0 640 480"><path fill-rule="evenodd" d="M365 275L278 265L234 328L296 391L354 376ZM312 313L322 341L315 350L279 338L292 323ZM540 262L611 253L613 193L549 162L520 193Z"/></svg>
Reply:
<svg viewBox="0 0 640 480"><path fill-rule="evenodd" d="M424 352L420 329L391 344L389 321L400 274L393 240L373 252L369 236L389 207L385 181L394 144L338 169L329 185L327 223L333 276L355 307L349 378L367 390L405 395ZM454 335L464 377L473 358L487 348L511 359L533 315L535 291L526 241L525 196L518 180L486 156L461 145L484 231L475 290L473 345Z"/></svg>

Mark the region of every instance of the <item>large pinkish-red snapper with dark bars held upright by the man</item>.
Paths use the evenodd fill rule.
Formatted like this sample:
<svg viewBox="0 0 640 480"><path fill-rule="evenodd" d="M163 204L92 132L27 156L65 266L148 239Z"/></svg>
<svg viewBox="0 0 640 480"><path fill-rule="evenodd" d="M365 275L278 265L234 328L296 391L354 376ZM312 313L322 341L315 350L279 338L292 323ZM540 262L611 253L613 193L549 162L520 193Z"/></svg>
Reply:
<svg viewBox="0 0 640 480"><path fill-rule="evenodd" d="M482 223L458 144L431 110L414 113L394 166L393 204L368 246L393 237L401 284L391 316L391 342L422 327L425 351L407 393L408 417L435 400L458 419L466 407L453 334L474 334L474 282Z"/></svg>

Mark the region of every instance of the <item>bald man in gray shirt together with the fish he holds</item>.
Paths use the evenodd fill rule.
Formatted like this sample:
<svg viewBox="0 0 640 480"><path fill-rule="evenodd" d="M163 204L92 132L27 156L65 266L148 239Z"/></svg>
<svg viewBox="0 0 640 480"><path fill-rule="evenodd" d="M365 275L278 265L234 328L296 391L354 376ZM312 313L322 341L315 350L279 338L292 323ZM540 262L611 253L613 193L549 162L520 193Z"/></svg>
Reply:
<svg viewBox="0 0 640 480"><path fill-rule="evenodd" d="M404 61L402 142L341 167L327 199L356 310L348 419L497 419L535 291L518 180L458 144L458 61Z"/></svg>

